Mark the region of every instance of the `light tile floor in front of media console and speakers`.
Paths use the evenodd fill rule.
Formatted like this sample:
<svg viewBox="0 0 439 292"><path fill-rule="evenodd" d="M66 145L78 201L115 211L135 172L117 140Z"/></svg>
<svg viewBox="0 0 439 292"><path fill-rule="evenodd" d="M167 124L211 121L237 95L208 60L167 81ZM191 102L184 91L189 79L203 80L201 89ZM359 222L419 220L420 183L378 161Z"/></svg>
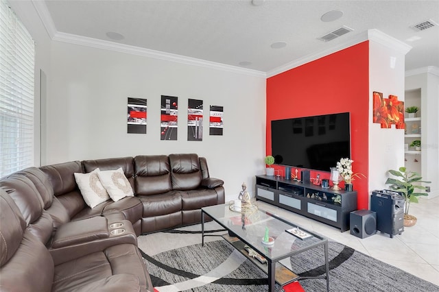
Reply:
<svg viewBox="0 0 439 292"><path fill-rule="evenodd" d="M382 232L359 239L351 235L349 230L340 232L337 228L283 208L262 201L258 201L257 204L259 208L269 210L303 228L318 232L329 239L439 285L439 197L421 198L418 204L412 203L410 214L418 218L416 225L404 228L401 235L394 235L392 239Z"/></svg>

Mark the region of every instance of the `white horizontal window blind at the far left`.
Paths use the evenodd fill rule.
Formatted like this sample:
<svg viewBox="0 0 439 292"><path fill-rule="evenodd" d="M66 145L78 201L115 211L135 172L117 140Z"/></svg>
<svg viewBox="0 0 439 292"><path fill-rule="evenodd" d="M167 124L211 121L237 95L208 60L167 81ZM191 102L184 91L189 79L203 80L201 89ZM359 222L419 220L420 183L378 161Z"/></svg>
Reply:
<svg viewBox="0 0 439 292"><path fill-rule="evenodd" d="M34 165L34 40L0 0L0 177Z"/></svg>

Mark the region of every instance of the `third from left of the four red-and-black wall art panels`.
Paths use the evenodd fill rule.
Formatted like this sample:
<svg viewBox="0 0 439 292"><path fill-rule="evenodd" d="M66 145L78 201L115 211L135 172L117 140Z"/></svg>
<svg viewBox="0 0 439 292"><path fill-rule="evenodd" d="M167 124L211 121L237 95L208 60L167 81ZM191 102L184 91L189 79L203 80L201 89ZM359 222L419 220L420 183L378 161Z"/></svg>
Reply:
<svg viewBox="0 0 439 292"><path fill-rule="evenodd" d="M203 141L203 101L187 102L187 141Z"/></svg>

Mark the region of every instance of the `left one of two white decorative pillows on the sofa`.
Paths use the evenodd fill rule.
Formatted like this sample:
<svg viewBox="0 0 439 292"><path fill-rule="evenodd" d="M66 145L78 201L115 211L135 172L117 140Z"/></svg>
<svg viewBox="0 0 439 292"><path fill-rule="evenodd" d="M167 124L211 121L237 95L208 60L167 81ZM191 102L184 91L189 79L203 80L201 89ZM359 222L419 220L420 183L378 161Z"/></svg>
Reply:
<svg viewBox="0 0 439 292"><path fill-rule="evenodd" d="M90 173L74 173L76 184L80 188L85 203L90 207L95 206L110 199L104 186L97 177L99 169L95 169Z"/></svg>

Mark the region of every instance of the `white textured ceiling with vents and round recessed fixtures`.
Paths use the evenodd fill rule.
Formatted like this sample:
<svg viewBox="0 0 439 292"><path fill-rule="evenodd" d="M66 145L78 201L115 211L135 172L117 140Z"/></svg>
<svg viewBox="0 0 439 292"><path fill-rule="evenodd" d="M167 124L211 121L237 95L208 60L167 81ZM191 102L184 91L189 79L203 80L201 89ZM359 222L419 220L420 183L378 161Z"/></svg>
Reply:
<svg viewBox="0 0 439 292"><path fill-rule="evenodd" d="M439 26L422 32L410 28L428 19L439 23L439 1L266 0L263 5L244 0L43 3L49 12L43 21L56 33L232 66L250 62L241 67L262 72L328 50L367 29L378 29L412 47L406 57L406 71L439 67ZM331 22L321 21L322 14L330 10L342 10L343 16ZM342 25L353 32L329 42L318 40ZM107 32L124 38L112 40ZM287 45L272 49L273 42Z"/></svg>

